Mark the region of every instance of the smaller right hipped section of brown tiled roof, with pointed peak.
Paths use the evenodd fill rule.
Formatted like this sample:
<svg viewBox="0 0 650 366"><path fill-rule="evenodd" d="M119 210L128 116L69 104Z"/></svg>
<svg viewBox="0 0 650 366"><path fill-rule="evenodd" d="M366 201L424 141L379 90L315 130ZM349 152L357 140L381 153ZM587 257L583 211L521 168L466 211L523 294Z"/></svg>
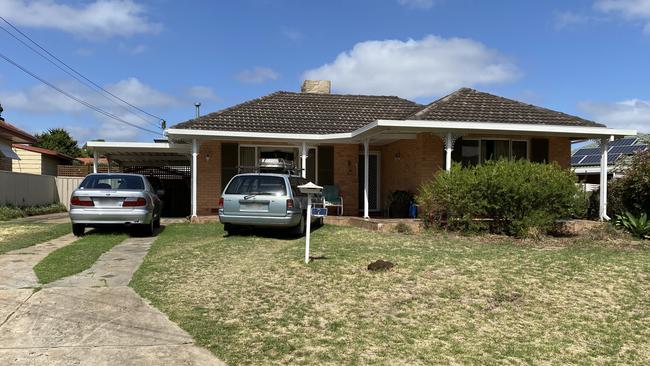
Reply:
<svg viewBox="0 0 650 366"><path fill-rule="evenodd" d="M430 121L525 123L603 127L566 113L462 88L440 98L409 118Z"/></svg>

